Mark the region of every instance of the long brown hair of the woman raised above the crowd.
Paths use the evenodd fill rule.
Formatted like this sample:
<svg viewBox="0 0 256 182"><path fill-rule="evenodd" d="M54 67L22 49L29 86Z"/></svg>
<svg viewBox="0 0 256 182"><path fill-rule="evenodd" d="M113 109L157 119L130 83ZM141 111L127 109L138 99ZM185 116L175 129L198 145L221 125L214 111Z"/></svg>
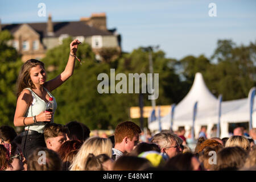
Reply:
<svg viewBox="0 0 256 182"><path fill-rule="evenodd" d="M19 97L20 93L24 88L35 89L35 85L33 84L30 78L30 70L31 68L36 67L36 65L42 65L42 67L44 68L44 63L36 59L27 60L22 65L22 68L20 69L20 72L19 72L18 80L16 82L17 98Z"/></svg>

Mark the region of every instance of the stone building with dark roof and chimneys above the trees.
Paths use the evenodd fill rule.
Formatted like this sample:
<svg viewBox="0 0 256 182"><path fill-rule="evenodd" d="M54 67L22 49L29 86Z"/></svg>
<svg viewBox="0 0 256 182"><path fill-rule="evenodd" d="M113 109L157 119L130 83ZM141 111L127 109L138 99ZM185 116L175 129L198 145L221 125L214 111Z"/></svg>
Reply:
<svg viewBox="0 0 256 182"><path fill-rule="evenodd" d="M22 61L42 59L47 49L59 46L68 36L88 43L102 60L101 50L116 49L121 52L121 35L116 29L106 27L106 14L92 14L89 18L80 18L74 22L52 22L51 15L46 23L1 24L1 30L9 30L14 36L10 42L22 55Z"/></svg>

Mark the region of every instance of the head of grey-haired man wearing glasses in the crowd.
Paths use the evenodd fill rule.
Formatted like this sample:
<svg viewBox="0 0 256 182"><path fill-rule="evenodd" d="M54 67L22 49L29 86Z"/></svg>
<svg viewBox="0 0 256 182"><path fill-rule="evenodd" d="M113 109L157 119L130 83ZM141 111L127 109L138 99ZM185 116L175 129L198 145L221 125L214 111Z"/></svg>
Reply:
<svg viewBox="0 0 256 182"><path fill-rule="evenodd" d="M174 133L161 132L155 134L152 143L158 144L162 153L166 153L169 158L183 152L183 139Z"/></svg>

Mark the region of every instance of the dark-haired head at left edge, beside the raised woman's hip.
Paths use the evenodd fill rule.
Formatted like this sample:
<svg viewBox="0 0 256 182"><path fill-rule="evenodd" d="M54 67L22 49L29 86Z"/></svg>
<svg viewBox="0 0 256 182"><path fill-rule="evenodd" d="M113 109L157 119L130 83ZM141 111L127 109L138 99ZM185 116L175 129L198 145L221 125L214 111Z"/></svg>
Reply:
<svg viewBox="0 0 256 182"><path fill-rule="evenodd" d="M0 126L0 144L11 143L17 136L16 131L11 126Z"/></svg>

